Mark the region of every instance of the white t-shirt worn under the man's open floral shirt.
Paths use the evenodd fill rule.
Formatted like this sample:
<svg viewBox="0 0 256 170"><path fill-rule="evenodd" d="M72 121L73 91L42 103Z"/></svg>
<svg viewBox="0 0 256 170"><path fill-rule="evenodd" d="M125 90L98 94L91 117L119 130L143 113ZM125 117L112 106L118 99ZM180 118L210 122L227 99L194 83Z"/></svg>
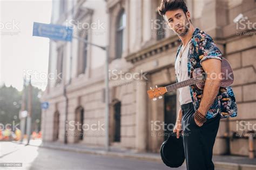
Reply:
<svg viewBox="0 0 256 170"><path fill-rule="evenodd" d="M189 79L187 75L187 56L188 56L189 49L190 49L190 44L187 44L186 49L182 54L182 57L180 58L180 54L178 54L175 62L175 72L176 72L178 82ZM180 49L179 52L181 52L181 50L183 50L183 47ZM192 99L190 96L190 87L186 86L186 87L180 88L179 89L180 105L184 105L190 102L192 102Z"/></svg>

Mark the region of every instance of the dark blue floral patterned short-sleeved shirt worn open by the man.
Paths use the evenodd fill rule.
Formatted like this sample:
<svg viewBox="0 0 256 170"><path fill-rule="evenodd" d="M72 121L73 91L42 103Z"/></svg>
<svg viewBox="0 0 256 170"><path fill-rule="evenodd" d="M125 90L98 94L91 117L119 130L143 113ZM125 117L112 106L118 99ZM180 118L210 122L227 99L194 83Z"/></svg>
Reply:
<svg viewBox="0 0 256 170"><path fill-rule="evenodd" d="M178 48L176 58L180 51L181 45ZM190 43L190 50L187 57L188 77L191 77L191 72L194 69L202 67L201 63L204 60L209 58L215 58L219 60L222 59L221 52L219 48L214 44L212 37L198 28L196 28L193 32ZM201 98L203 97L203 90L196 88L196 85L191 85L190 94L194 109L197 110ZM221 119L237 116L237 103L235 102L232 87L220 87L217 97L206 113L206 119L214 118L217 114L221 115Z"/></svg>

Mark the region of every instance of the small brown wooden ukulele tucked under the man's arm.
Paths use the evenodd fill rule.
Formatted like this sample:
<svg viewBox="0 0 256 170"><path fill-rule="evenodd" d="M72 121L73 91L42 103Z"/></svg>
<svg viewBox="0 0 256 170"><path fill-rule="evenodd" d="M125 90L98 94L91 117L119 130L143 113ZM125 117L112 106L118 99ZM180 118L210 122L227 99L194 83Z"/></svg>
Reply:
<svg viewBox="0 0 256 170"><path fill-rule="evenodd" d="M222 79L220 82L220 87L228 87L233 84L233 81L234 81L233 71L230 63L228 63L228 61L225 58L221 60L221 77ZM180 81L178 83L171 84L165 87L156 86L155 89L152 89L152 87L150 87L150 90L147 91L147 94L149 95L150 99L153 99L155 101L157 100L157 97L159 99L163 98L162 95L164 95L167 92L179 89L181 87L194 85L194 84L196 84L196 87L198 89L203 90L206 78L207 78L206 73L204 72L203 68L200 67L191 72L190 79L187 79L185 81Z"/></svg>

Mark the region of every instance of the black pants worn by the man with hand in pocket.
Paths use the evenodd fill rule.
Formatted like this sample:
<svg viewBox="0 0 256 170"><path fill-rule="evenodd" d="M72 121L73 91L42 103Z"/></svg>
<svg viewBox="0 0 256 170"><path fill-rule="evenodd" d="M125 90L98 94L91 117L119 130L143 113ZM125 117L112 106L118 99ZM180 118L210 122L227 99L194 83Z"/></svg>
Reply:
<svg viewBox="0 0 256 170"><path fill-rule="evenodd" d="M220 114L207 119L203 126L194 121L192 103L181 105L183 113L181 124L187 170L212 170L212 149L218 132Z"/></svg>

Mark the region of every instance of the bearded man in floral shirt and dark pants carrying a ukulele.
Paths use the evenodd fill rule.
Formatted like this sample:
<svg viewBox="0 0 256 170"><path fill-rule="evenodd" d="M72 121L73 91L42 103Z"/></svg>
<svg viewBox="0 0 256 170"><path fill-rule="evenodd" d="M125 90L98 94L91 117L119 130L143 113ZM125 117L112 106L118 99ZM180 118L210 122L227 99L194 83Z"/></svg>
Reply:
<svg viewBox="0 0 256 170"><path fill-rule="evenodd" d="M173 132L183 135L188 170L214 169L212 150L221 118L235 117L237 104L231 87L220 87L221 52L212 38L194 28L190 12L182 0L162 0L161 16L181 40L175 70L177 81L191 77L194 69L203 67L207 79L203 90L196 85L179 89L180 109Z"/></svg>

